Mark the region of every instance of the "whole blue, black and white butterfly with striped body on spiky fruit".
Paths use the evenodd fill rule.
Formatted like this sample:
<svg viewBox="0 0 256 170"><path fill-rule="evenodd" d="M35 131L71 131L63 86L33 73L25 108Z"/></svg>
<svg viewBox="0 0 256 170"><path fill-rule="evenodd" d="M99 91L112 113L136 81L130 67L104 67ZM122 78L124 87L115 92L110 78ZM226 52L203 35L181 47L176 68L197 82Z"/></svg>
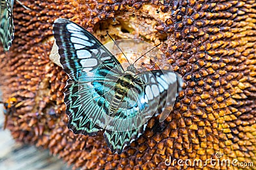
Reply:
<svg viewBox="0 0 256 170"><path fill-rule="evenodd" d="M55 20L53 34L69 76L64 93L68 129L90 136L104 131L113 153L122 153L138 139L149 118L161 113L166 101L174 102L181 90L182 79L172 71L140 73L134 64L124 71L97 38L70 20Z"/></svg>

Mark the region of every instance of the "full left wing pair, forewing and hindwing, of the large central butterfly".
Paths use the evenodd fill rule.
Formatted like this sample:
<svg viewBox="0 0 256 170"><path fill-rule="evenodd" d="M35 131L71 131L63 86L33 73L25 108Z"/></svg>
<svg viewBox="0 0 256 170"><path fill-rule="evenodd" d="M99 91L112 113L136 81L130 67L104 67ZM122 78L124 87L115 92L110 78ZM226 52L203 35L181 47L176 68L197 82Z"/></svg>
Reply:
<svg viewBox="0 0 256 170"><path fill-rule="evenodd" d="M113 78L124 70L99 40L74 22L55 20L53 33L60 62L70 77L64 99L68 128L75 134L94 135L106 125L106 96L113 95Z"/></svg>

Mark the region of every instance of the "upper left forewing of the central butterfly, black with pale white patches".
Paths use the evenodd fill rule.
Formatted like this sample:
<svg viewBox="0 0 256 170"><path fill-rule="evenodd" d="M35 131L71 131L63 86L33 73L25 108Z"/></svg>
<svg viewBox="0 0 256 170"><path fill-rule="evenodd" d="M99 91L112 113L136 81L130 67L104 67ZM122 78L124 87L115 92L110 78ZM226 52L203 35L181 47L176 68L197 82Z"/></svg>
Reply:
<svg viewBox="0 0 256 170"><path fill-rule="evenodd" d="M84 81L91 81L94 76L99 76L95 75L99 66L110 69L117 67L120 72L123 71L118 60L111 57L112 54L102 43L83 27L59 18L54 22L53 31L59 47L60 62L72 80L79 81L83 77L88 78ZM104 57L110 57L111 60L106 60L108 63L103 65ZM82 70L83 75L80 75Z"/></svg>

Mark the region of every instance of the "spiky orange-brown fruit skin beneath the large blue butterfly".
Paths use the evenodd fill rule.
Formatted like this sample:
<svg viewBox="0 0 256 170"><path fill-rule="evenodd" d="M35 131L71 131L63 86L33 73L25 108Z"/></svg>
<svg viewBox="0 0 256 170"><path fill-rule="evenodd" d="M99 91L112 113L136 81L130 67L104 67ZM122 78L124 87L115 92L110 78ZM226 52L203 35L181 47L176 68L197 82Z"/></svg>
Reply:
<svg viewBox="0 0 256 170"><path fill-rule="evenodd" d="M15 3L15 39L10 52L1 48L0 56L3 98L25 101L8 118L13 138L49 148L74 169L227 169L164 164L169 157L215 159L217 152L255 165L255 1L164 2L22 1L31 10ZM129 17L132 13L136 19ZM165 129L152 118L145 134L121 155L109 151L101 133L81 136L67 129L63 91L68 77L49 60L52 24L59 17L98 38L114 30L115 38L163 42L162 52L184 80ZM138 30L117 32L120 25L108 25L115 18Z"/></svg>

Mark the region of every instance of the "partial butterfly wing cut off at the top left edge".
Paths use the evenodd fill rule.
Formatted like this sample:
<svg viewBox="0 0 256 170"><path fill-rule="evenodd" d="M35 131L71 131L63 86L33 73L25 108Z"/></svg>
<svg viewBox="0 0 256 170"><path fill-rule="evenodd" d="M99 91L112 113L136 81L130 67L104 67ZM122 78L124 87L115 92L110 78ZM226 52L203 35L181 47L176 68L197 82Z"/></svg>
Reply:
<svg viewBox="0 0 256 170"><path fill-rule="evenodd" d="M8 51L14 38L13 12L10 0L1 0L0 7L0 41L4 51Z"/></svg>

